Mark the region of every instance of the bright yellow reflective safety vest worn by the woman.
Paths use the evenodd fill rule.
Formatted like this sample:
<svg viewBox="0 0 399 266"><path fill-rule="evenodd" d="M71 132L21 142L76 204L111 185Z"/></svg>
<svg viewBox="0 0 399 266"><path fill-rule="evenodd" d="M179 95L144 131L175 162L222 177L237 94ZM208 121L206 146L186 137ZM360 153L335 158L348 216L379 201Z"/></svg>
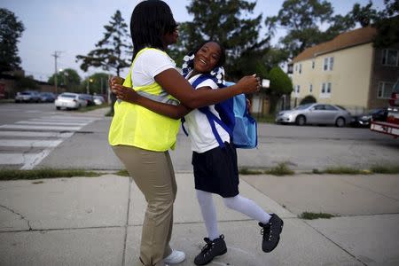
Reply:
<svg viewBox="0 0 399 266"><path fill-rule="evenodd" d="M141 53L149 49L153 48L145 48L139 51L136 59ZM153 50L166 54L164 51ZM132 88L131 71L136 59L133 60L129 74L123 83L125 87ZM178 104L176 98L162 90L157 82L146 86L134 87L132 90L136 90L140 95L159 102ZM168 118L145 107L124 101L116 101L113 108L113 121L108 134L110 145L131 145L155 152L165 152L168 149L175 148L180 120Z"/></svg>

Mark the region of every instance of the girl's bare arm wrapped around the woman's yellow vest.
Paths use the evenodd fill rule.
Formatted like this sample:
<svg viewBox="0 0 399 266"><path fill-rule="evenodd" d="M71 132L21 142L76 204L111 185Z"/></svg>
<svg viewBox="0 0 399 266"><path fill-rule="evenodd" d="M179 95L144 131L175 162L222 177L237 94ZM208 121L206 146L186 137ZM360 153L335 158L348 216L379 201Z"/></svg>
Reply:
<svg viewBox="0 0 399 266"><path fill-rule="evenodd" d="M155 113L168 116L172 119L180 119L184 117L185 114L190 113L190 111L192 111L192 109L187 108L184 105L173 106L153 101L152 99L145 98L139 95L136 92L136 90L132 90L131 88L124 87L117 83L113 83L112 89L113 93L116 94L117 98L129 102L131 104L143 106Z"/></svg>

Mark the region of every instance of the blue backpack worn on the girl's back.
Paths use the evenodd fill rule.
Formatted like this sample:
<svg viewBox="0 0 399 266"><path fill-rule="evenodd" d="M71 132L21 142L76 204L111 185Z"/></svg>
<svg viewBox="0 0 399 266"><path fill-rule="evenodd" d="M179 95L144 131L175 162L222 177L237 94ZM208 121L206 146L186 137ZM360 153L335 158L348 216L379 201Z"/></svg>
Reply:
<svg viewBox="0 0 399 266"><path fill-rule="evenodd" d="M201 74L200 77L192 83L192 87L196 88L201 82L209 78L215 79L210 74ZM223 87L231 85L234 85L234 83L226 82L226 85ZM219 86L222 87L222 85ZM221 147L224 147L224 144L215 128L215 122L229 133L235 147L253 149L258 145L257 124L254 118L248 113L246 108L246 96L244 94L239 94L233 98L215 104L215 110L219 113L221 119L210 112L208 106L200 107L199 110L201 113L207 115L207 120L209 121L212 132ZM184 126L183 130L185 135L188 136Z"/></svg>

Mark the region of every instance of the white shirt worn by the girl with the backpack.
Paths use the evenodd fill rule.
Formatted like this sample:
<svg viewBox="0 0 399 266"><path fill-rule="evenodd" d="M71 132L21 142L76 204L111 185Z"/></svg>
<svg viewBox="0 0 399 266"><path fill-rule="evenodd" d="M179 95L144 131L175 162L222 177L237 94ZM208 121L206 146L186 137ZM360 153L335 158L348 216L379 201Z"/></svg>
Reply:
<svg viewBox="0 0 399 266"><path fill-rule="evenodd" d="M190 84L195 82L200 74L194 75L189 78ZM197 88L210 87L213 90L219 89L217 84L211 79L207 79L204 82L200 82ZM197 89L195 88L195 89ZM215 110L215 106L209 106L210 112L214 113L219 119L219 113ZM190 140L192 142L192 151L197 153L205 153L219 145L217 142L209 121L207 120L207 115L201 113L200 110L195 109L188 113L184 117L185 123L184 127L187 129ZM223 142L230 142L230 135L224 130L218 123L215 122L215 128L219 133Z"/></svg>

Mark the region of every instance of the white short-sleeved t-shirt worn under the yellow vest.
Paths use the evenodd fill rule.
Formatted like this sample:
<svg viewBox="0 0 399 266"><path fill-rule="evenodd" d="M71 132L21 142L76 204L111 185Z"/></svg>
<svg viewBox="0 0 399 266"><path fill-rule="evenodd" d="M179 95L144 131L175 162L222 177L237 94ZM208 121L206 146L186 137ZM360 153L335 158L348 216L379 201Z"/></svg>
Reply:
<svg viewBox="0 0 399 266"><path fill-rule="evenodd" d="M153 84L154 77L169 68L176 68L176 63L165 52L155 49L143 51L131 72L133 87Z"/></svg>

